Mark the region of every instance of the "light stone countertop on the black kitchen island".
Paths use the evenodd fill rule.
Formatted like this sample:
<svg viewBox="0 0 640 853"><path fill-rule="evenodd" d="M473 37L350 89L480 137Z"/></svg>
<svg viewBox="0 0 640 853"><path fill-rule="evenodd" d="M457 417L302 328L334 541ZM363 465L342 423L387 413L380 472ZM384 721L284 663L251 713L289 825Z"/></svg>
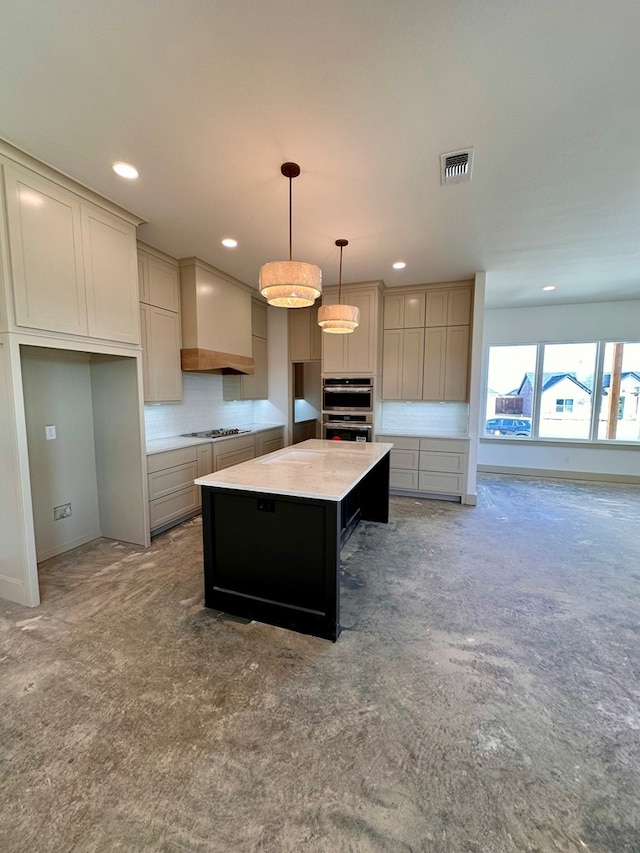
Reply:
<svg viewBox="0 0 640 853"><path fill-rule="evenodd" d="M199 477L199 486L340 501L393 447L382 442L310 438Z"/></svg>

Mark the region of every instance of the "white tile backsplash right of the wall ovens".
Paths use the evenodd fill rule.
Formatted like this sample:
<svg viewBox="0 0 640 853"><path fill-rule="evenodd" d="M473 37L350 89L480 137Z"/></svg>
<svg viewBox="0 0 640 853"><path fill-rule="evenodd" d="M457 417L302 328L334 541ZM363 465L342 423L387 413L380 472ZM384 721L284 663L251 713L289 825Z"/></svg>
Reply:
<svg viewBox="0 0 640 853"><path fill-rule="evenodd" d="M387 435L469 433L468 403L381 403L376 432Z"/></svg>

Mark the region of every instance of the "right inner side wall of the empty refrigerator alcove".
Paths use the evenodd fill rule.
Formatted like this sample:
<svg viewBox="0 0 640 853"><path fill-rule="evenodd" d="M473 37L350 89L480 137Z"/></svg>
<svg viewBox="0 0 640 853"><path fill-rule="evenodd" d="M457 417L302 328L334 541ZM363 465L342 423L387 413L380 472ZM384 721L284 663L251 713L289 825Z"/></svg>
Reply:
<svg viewBox="0 0 640 853"><path fill-rule="evenodd" d="M135 358L91 357L95 466L102 535L149 544L144 453ZM141 385L140 385L141 387Z"/></svg>

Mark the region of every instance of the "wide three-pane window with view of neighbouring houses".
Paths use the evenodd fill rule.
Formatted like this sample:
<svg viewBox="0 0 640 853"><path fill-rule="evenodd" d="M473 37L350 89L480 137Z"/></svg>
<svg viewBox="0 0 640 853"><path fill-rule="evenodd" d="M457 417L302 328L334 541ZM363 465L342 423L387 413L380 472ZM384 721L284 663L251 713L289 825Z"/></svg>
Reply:
<svg viewBox="0 0 640 853"><path fill-rule="evenodd" d="M640 342L490 346L485 436L640 441Z"/></svg>

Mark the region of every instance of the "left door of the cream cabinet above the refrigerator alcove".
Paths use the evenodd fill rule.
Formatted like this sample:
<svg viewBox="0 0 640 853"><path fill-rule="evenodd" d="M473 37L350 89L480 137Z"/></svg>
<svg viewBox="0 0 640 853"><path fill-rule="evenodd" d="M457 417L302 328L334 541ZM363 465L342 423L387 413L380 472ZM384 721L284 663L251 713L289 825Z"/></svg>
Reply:
<svg viewBox="0 0 640 853"><path fill-rule="evenodd" d="M78 199L27 169L4 173L16 325L86 335Z"/></svg>

